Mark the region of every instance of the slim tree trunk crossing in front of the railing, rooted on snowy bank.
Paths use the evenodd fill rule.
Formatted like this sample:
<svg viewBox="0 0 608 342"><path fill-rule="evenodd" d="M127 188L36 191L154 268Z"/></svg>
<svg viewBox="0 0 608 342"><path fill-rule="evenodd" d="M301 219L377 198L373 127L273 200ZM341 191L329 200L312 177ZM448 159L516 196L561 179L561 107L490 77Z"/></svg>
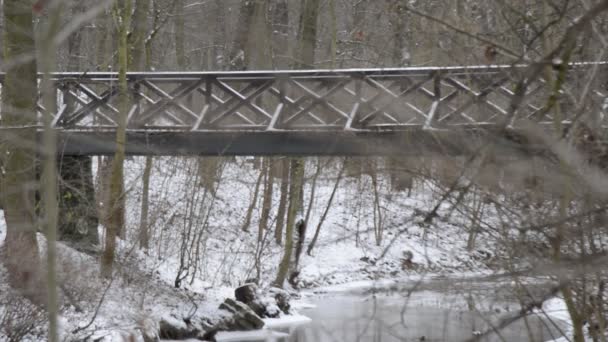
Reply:
<svg viewBox="0 0 608 342"><path fill-rule="evenodd" d="M129 112L129 89L127 84L128 44L127 33L130 27L131 1L120 0L114 5L115 20L118 23L118 86L120 114L116 130L116 152L112 163L110 179L110 217L106 227L106 246L101 259L101 273L112 276L112 265L116 250L116 237L124 229L124 159L126 145L127 114Z"/></svg>

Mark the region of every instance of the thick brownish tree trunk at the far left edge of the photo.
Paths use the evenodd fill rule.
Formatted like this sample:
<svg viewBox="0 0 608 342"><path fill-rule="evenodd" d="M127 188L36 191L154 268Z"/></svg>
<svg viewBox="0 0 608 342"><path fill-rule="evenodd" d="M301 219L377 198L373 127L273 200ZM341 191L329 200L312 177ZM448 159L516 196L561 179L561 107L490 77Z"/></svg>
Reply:
<svg viewBox="0 0 608 342"><path fill-rule="evenodd" d="M43 304L36 242L36 99L37 77L32 8L29 1L4 0L4 60L29 60L6 70L2 88L2 126L26 127L2 138L2 202L6 221L4 265L8 280L28 298Z"/></svg>

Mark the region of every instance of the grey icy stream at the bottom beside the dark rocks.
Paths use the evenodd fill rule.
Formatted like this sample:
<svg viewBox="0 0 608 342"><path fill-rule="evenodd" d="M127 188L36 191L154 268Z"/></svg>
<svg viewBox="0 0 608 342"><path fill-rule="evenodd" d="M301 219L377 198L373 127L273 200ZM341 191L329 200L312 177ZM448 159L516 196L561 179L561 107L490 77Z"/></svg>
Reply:
<svg viewBox="0 0 608 342"><path fill-rule="evenodd" d="M528 293L546 286L530 287ZM520 306L509 283L431 282L412 287L308 294L314 305L299 312L312 319L292 331L291 342L335 341L551 341L567 325L532 314L483 334L518 314ZM483 336L480 336L482 335Z"/></svg>

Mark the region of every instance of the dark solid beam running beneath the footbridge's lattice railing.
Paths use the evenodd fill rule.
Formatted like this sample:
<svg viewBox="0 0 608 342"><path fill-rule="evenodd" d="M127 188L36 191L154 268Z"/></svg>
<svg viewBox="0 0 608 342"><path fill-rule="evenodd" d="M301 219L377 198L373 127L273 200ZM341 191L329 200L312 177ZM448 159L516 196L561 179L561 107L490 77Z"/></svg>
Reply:
<svg viewBox="0 0 608 342"><path fill-rule="evenodd" d="M116 133L60 131L66 155L109 155ZM488 143L513 153L534 153L537 145L516 130L346 131L150 131L127 132L129 155L466 155Z"/></svg>

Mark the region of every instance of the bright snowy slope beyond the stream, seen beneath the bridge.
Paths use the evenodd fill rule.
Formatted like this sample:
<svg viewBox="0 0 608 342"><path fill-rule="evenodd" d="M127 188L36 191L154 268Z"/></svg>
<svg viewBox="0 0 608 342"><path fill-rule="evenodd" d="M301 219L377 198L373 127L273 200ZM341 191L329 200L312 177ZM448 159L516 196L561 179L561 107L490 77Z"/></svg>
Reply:
<svg viewBox="0 0 608 342"><path fill-rule="evenodd" d="M130 162L128 168L128 224L135 234L139 222L141 160ZM330 197L336 169L330 165L317 182L305 246L311 240ZM308 171L307 175L311 177L314 170ZM245 159L228 164L223 169L213 198L209 192L205 193L204 189L196 186L196 173L195 159L163 159L155 163L150 185L155 241L150 253L155 258L149 258L153 264L149 266L156 267L162 278L173 281L179 261L179 241L182 233L191 229L190 224L194 220L194 224L204 230L200 238L204 257L201 257L197 275L190 277L186 286L198 292L210 287L237 286L256 276L254 255L261 195L258 196L249 231L243 232L240 228L245 221L259 171ZM271 227L278 206L279 183L277 179ZM305 204L309 203L310 183L307 182L305 189ZM477 250L467 252L466 239L457 217L453 222L441 222L440 229L425 228L420 224L420 211L429 210L437 203L436 194L418 191L409 197L405 192L391 191L386 181L379 183L384 227L381 245L376 244L374 236L374 191L370 177L345 178L321 228L313 256L303 255L301 259L301 285L311 287L407 277L409 273L480 272L488 269L484 259L494 254L494 246L486 245L482 236L478 239ZM194 205L189 206L189 202L194 202ZM266 284L274 279L282 253L282 246L272 240L270 232L261 255L260 280ZM418 266L415 272L401 270L400 259L405 251L413 254L413 261ZM384 257L376 260L381 255Z"/></svg>

